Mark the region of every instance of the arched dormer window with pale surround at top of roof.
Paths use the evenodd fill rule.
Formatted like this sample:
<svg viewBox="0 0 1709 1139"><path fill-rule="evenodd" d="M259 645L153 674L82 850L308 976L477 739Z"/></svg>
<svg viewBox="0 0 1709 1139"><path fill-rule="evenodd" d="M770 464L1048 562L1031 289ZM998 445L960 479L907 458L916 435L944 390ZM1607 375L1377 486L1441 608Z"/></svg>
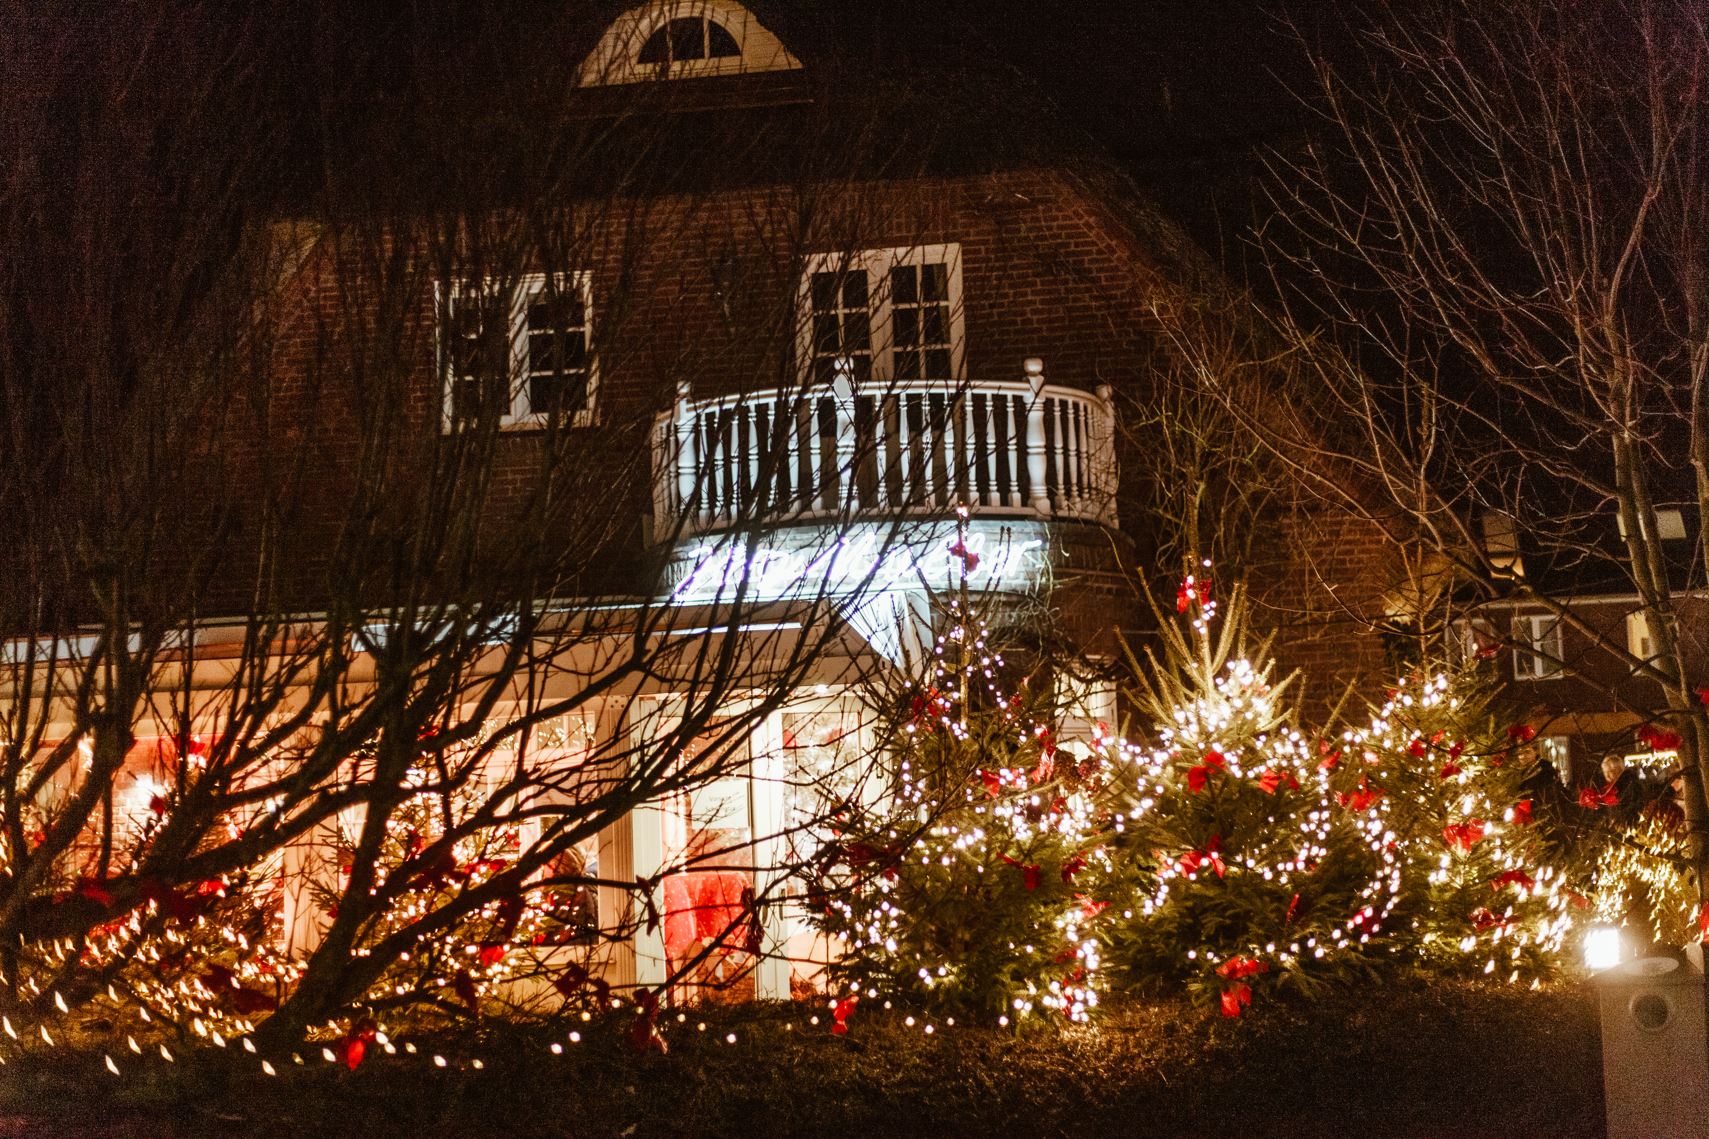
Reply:
<svg viewBox="0 0 1709 1139"><path fill-rule="evenodd" d="M731 0L660 0L624 12L581 65L583 87L743 75L802 61Z"/></svg>

